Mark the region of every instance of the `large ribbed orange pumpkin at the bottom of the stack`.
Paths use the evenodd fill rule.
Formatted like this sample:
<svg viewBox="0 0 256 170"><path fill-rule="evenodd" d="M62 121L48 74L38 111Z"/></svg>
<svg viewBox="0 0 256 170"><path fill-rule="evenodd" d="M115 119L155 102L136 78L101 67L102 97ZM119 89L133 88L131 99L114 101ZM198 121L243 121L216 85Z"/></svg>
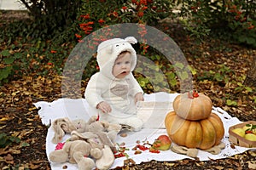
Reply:
<svg viewBox="0 0 256 170"><path fill-rule="evenodd" d="M166 132L178 145L206 150L220 143L224 137L224 125L215 113L207 119L189 121L169 112L165 119Z"/></svg>

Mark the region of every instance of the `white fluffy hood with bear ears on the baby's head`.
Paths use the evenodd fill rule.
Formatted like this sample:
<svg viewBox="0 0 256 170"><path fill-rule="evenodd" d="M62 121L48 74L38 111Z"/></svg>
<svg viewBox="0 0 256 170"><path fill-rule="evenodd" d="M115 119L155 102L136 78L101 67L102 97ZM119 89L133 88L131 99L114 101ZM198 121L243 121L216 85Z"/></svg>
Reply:
<svg viewBox="0 0 256 170"><path fill-rule="evenodd" d="M113 64L123 51L131 52L131 71L134 70L137 63L137 55L131 43L137 43L137 39L135 37L113 38L99 44L96 59L102 74L111 79L114 78L112 74Z"/></svg>

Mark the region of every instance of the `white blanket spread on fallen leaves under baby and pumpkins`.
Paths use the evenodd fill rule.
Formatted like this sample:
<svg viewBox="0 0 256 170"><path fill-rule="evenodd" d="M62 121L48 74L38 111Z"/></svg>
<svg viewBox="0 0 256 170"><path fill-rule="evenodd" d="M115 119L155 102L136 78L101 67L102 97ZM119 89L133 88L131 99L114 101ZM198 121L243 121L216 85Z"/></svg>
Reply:
<svg viewBox="0 0 256 170"><path fill-rule="evenodd" d="M148 141L153 143L154 139L157 139L160 134L166 134L166 129L164 126L164 120L166 113L173 111L172 101L175 99L177 94L166 94L166 93L156 93L156 94L145 94L145 101L140 103L137 106L137 112L139 116L143 117L145 125L143 129L139 132L127 132L127 137L121 137L118 135L117 143L121 144L125 142L125 147L130 150L125 151L128 154L129 158L136 161L137 164L143 161L176 161L182 160L185 158L193 159L189 156L180 155L172 152L172 150L160 151L159 154L150 153L148 150L142 152L142 154L134 154L134 150L131 150L137 145L137 140L143 142ZM39 116L42 119L44 125L49 125L50 122L53 122L57 118L69 117L71 120L83 118L88 120L90 116L90 111L88 111L88 103L85 99L57 99L51 103L40 101L34 104L37 108L40 108L38 111ZM207 161L210 159L221 159L229 156L233 156L239 153L242 153L249 148L236 146L235 149L230 147L229 142L229 127L237 123L240 123L236 117L230 116L226 111L223 111L221 108L212 107L212 112L218 114L218 116L224 122L224 139L222 140L226 147L218 155L212 155L206 151L199 150L198 158L201 161ZM55 150L55 144L51 143L51 139L54 136L54 132L51 128L48 129L46 137L46 154L49 156L49 153ZM69 138L69 135L66 135L63 139L63 142ZM255 149L255 148L251 148ZM125 157L120 157L115 159L112 168L114 167L123 167ZM70 163L50 163L51 169L57 170L61 169L64 165L67 166L68 170L78 169L77 165Z"/></svg>

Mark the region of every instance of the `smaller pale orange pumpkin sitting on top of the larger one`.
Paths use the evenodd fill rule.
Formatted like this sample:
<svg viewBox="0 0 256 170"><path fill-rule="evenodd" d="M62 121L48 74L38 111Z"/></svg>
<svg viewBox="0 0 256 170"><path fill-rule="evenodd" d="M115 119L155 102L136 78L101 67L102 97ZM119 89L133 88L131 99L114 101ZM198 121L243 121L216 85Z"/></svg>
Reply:
<svg viewBox="0 0 256 170"><path fill-rule="evenodd" d="M205 119L212 113L212 100L195 91L178 95L173 101L173 109L177 116L186 120Z"/></svg>

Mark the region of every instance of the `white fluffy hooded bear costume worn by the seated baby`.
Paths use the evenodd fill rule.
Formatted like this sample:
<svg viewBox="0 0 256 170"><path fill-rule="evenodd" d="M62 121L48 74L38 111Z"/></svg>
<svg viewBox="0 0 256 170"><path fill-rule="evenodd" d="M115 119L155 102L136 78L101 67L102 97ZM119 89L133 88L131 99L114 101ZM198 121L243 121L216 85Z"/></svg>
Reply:
<svg viewBox="0 0 256 170"><path fill-rule="evenodd" d="M137 93L143 93L143 89L131 72L122 79L113 77L112 74L115 59L123 51L131 52L131 71L134 70L137 55L131 43L137 43L135 37L113 38L99 44L96 59L100 71L90 77L84 96L90 105L90 111L93 114L99 113L102 120L128 125L137 131L143 127L143 121L136 115L134 97ZM96 109L96 105L102 101L111 106L110 113L102 113Z"/></svg>

